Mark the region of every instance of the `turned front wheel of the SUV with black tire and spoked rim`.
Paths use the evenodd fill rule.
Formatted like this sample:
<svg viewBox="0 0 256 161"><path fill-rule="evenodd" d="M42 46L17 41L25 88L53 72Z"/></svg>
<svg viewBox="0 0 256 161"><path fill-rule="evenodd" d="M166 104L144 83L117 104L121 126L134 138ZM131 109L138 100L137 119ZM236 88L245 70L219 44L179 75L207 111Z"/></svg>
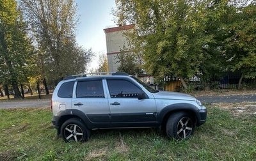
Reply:
<svg viewBox="0 0 256 161"><path fill-rule="evenodd" d="M177 140L186 139L193 135L195 122L191 115L186 112L171 114L166 123L166 134Z"/></svg>

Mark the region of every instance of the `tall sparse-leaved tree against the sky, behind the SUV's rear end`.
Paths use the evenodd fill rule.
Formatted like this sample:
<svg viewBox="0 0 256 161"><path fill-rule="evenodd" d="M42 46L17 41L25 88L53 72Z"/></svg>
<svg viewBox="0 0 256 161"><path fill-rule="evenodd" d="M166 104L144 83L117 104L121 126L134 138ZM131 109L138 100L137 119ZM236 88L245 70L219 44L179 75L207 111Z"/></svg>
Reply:
<svg viewBox="0 0 256 161"><path fill-rule="evenodd" d="M20 5L35 37L44 84L57 84L66 75L84 72L92 50L84 50L76 43L75 1L21 0Z"/></svg>

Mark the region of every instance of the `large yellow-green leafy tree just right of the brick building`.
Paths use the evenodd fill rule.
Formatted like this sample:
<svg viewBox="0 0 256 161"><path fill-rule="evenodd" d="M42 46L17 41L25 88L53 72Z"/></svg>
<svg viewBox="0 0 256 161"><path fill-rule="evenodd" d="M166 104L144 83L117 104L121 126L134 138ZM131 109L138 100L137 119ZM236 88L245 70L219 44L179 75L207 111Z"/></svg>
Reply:
<svg viewBox="0 0 256 161"><path fill-rule="evenodd" d="M183 87L199 72L205 34L204 5L200 1L116 1L118 23L135 24L134 47L143 47L145 68L156 78L179 77ZM141 52L141 51L140 51Z"/></svg>

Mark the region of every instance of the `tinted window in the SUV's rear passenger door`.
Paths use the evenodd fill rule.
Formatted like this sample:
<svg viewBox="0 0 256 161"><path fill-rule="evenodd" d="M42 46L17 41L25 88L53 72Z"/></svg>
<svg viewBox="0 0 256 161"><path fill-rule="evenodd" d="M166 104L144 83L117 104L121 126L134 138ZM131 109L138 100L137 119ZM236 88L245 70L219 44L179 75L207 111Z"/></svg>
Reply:
<svg viewBox="0 0 256 161"><path fill-rule="evenodd" d="M102 81L81 81L76 86L77 98L104 98Z"/></svg>

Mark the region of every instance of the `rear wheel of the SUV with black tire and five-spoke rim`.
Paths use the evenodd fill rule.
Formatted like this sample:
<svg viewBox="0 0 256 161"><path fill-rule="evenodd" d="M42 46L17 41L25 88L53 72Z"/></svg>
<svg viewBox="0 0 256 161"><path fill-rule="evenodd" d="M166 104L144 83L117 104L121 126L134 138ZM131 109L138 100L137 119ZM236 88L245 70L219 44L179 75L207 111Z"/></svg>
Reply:
<svg viewBox="0 0 256 161"><path fill-rule="evenodd" d="M86 128L83 121L78 118L71 118L65 121L61 125L61 137L65 142L76 141L84 142L88 141L90 137L90 130Z"/></svg>

